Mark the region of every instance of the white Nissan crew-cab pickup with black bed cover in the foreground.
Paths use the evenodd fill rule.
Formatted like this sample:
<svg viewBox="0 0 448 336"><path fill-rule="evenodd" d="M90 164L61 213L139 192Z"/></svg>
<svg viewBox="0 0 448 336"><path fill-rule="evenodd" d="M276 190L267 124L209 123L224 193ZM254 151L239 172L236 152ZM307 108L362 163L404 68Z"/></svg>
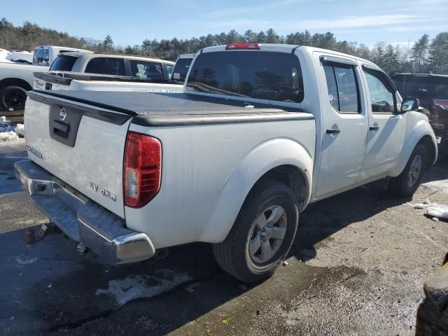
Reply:
<svg viewBox="0 0 448 336"><path fill-rule="evenodd" d="M253 282L286 257L308 204L384 178L412 195L437 159L416 99L402 102L357 57L204 48L185 90L28 92L23 188L107 262L204 241L225 271Z"/></svg>

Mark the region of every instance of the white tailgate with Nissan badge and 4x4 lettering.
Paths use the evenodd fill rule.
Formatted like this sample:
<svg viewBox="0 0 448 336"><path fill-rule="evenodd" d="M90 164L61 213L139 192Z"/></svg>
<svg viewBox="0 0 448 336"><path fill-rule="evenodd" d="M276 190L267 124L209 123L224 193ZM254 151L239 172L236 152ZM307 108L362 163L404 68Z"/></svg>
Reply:
<svg viewBox="0 0 448 336"><path fill-rule="evenodd" d="M132 113L29 92L29 159L124 218L123 153Z"/></svg>

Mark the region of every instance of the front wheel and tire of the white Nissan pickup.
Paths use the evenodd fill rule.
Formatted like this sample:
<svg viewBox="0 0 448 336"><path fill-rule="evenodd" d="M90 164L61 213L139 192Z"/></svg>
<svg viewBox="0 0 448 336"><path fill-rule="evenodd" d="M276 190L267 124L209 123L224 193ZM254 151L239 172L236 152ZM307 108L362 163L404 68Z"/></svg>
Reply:
<svg viewBox="0 0 448 336"><path fill-rule="evenodd" d="M426 170L428 153L422 144L417 145L402 173L391 179L391 190L395 195L409 197L419 188Z"/></svg>

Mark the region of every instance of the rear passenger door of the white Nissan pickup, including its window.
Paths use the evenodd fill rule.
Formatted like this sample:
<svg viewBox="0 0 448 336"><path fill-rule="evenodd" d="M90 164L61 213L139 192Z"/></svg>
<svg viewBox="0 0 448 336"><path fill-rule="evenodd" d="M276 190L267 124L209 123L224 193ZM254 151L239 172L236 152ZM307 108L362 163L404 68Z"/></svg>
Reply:
<svg viewBox="0 0 448 336"><path fill-rule="evenodd" d="M353 59L321 56L321 162L316 198L356 183L363 165L367 111L360 69Z"/></svg>

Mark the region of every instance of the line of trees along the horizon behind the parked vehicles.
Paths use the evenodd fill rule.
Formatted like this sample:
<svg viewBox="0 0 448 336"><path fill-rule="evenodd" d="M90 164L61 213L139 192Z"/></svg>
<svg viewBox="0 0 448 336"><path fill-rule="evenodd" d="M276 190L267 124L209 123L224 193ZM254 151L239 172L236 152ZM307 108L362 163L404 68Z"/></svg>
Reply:
<svg viewBox="0 0 448 336"><path fill-rule="evenodd" d="M277 34L274 29L267 31L247 30L239 34L235 29L228 33L208 34L199 38L145 39L140 45L115 45L107 35L104 41L92 38L78 38L55 29L39 27L30 22L15 27L6 18L0 20L0 48L7 50L33 50L36 45L64 45L96 52L114 52L130 55L145 55L175 60L180 54L195 53L204 47L228 43L288 43L309 45L335 50L369 59L384 71L419 72L448 74L448 32L441 32L430 38L423 34L413 45L391 45L379 42L372 48L363 43L340 41L335 34L311 34L308 30L297 31L286 36Z"/></svg>

